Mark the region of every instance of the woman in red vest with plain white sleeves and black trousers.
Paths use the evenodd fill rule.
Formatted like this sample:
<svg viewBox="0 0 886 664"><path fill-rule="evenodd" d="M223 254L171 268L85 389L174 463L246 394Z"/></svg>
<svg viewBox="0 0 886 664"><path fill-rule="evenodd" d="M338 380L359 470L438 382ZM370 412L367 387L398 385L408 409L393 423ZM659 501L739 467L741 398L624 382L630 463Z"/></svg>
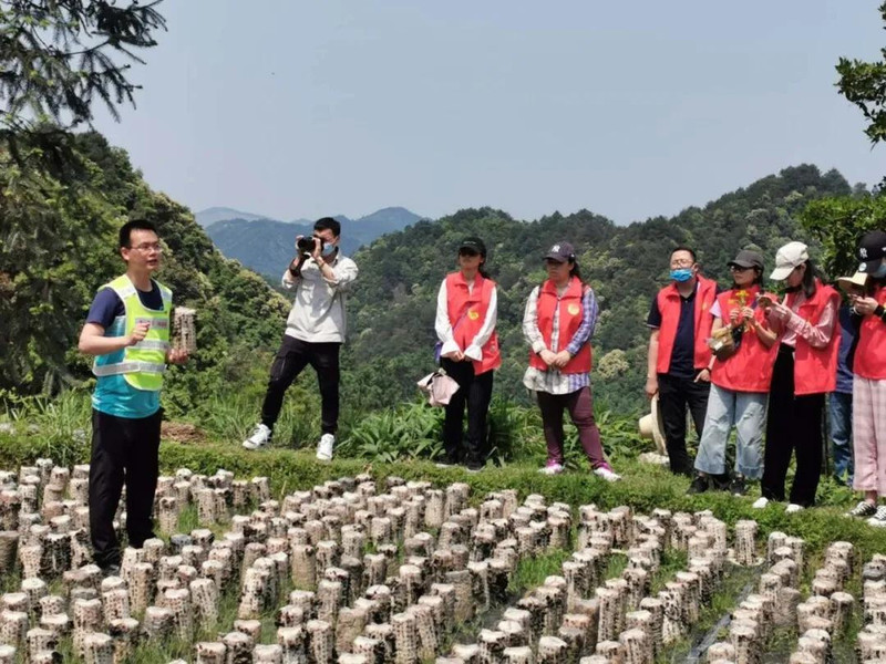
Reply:
<svg viewBox="0 0 886 664"><path fill-rule="evenodd" d="M495 333L497 293L483 266L486 246L476 237L459 245L459 271L447 274L436 299L440 365L459 383L446 405L441 466L465 461L477 471L486 463L486 415L492 400L493 371L502 365ZM467 449L462 454L462 426L467 404Z"/></svg>

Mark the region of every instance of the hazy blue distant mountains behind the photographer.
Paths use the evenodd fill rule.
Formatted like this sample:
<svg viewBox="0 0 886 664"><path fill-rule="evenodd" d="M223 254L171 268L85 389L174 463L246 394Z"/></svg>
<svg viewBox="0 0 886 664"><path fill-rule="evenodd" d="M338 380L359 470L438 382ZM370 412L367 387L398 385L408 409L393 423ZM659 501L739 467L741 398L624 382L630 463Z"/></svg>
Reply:
<svg viewBox="0 0 886 664"><path fill-rule="evenodd" d="M226 214L233 216L225 217ZM280 221L224 207L202 210L195 217L222 253L269 277L279 276L291 260L296 237L310 235L313 229L313 221L309 219ZM346 256L352 256L363 245L385 234L403 230L421 219L403 207L382 208L359 219L349 219L344 215L333 217L341 222L341 250ZM205 224L209 219L212 221Z"/></svg>

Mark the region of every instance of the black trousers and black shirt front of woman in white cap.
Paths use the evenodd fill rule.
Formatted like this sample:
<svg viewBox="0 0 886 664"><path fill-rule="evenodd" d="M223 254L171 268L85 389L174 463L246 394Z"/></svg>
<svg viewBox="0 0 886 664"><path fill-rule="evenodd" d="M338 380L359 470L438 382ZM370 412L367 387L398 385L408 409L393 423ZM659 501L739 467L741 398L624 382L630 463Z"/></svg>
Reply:
<svg viewBox="0 0 886 664"><path fill-rule="evenodd" d="M769 392L766 448L763 479L760 483L764 498L784 500L784 480L791 455L796 452L791 502L803 507L815 502L824 449L823 412L824 394L794 396L793 349L780 346Z"/></svg>

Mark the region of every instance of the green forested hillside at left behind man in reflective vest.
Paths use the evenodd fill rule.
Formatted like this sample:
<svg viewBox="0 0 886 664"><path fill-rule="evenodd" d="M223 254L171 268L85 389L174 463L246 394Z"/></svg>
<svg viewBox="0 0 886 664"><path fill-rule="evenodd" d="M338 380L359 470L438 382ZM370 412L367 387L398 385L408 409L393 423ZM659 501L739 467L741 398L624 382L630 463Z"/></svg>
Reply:
<svg viewBox="0 0 886 664"><path fill-rule="evenodd" d="M96 289L125 270L117 230L127 218L157 225L157 278L177 304L197 310L199 350L187 371L171 370L167 409L208 402L253 363L264 365L256 352L277 344L286 300L225 259L190 211L153 191L124 151L94 133L71 141L63 184L49 173L22 177L0 154L0 397L55 392L90 376L78 333Z"/></svg>

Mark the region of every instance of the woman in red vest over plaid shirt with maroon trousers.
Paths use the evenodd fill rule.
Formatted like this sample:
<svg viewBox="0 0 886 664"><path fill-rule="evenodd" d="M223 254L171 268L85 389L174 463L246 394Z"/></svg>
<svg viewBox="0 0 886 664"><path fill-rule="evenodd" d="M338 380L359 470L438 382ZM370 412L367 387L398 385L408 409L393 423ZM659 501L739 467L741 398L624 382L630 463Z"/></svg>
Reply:
<svg viewBox="0 0 886 664"><path fill-rule="evenodd" d="M548 278L533 289L523 315L523 333L532 346L523 384L538 397L547 443L547 464L542 473L563 473L566 408L594 474L616 481L621 477L606 463L590 395L590 338L597 324L597 299L581 281L568 242L554 245L545 256L545 266Z"/></svg>

